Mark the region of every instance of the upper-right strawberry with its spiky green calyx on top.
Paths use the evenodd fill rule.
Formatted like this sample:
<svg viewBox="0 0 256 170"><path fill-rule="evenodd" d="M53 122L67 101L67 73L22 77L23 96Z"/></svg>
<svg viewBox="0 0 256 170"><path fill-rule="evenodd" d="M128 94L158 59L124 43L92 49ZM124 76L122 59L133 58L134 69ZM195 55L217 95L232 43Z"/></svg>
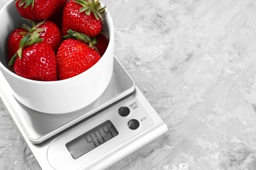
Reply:
<svg viewBox="0 0 256 170"><path fill-rule="evenodd" d="M64 7L62 17L62 34L69 29L83 33L88 37L95 37L102 31L102 14L105 7L95 0L69 1Z"/></svg>

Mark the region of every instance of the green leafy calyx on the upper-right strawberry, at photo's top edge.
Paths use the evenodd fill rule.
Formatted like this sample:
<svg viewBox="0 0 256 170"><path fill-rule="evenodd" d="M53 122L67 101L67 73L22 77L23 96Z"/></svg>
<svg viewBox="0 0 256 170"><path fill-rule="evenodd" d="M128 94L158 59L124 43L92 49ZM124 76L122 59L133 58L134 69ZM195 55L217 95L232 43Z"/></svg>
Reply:
<svg viewBox="0 0 256 170"><path fill-rule="evenodd" d="M93 12L97 20L103 21L102 14L104 14L105 7L100 7L100 1L98 0L76 0L75 3L81 5L79 12L85 12L85 14L90 15Z"/></svg>

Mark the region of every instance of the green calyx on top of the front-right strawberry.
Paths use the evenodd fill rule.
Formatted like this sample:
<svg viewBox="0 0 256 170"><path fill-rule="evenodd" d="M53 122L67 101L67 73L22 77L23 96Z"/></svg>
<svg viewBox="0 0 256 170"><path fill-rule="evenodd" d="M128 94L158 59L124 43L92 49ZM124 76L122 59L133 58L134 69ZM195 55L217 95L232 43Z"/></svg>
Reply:
<svg viewBox="0 0 256 170"><path fill-rule="evenodd" d="M77 31L73 31L72 29L69 29L67 33L68 35L63 36L64 39L79 40L85 42L85 44L87 44L90 48L94 48L95 50L97 50L95 47L95 44L97 44L97 40L95 37L90 38L87 35L84 35L83 33L78 33Z"/></svg>

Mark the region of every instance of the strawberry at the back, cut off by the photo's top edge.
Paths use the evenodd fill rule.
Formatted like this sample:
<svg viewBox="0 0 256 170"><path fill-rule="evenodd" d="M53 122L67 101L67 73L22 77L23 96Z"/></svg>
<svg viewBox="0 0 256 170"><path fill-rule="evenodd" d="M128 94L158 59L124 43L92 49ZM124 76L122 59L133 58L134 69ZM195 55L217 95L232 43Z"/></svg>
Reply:
<svg viewBox="0 0 256 170"><path fill-rule="evenodd" d="M65 5L66 0L16 0L16 9L20 15L33 21L54 18Z"/></svg>

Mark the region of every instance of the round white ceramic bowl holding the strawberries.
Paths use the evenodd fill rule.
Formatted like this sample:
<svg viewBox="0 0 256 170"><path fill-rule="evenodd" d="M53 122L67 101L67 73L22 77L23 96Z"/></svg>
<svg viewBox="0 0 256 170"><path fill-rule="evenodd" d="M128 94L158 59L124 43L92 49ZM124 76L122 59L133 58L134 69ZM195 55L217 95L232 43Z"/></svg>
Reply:
<svg viewBox="0 0 256 170"><path fill-rule="evenodd" d="M14 97L26 107L49 114L73 112L93 103L106 90L114 60L114 25L108 10L104 14L104 30L110 42L102 58L80 75L52 82L29 80L10 71L7 64L7 39L24 21L13 1L1 9L0 20L0 70L9 82Z"/></svg>

